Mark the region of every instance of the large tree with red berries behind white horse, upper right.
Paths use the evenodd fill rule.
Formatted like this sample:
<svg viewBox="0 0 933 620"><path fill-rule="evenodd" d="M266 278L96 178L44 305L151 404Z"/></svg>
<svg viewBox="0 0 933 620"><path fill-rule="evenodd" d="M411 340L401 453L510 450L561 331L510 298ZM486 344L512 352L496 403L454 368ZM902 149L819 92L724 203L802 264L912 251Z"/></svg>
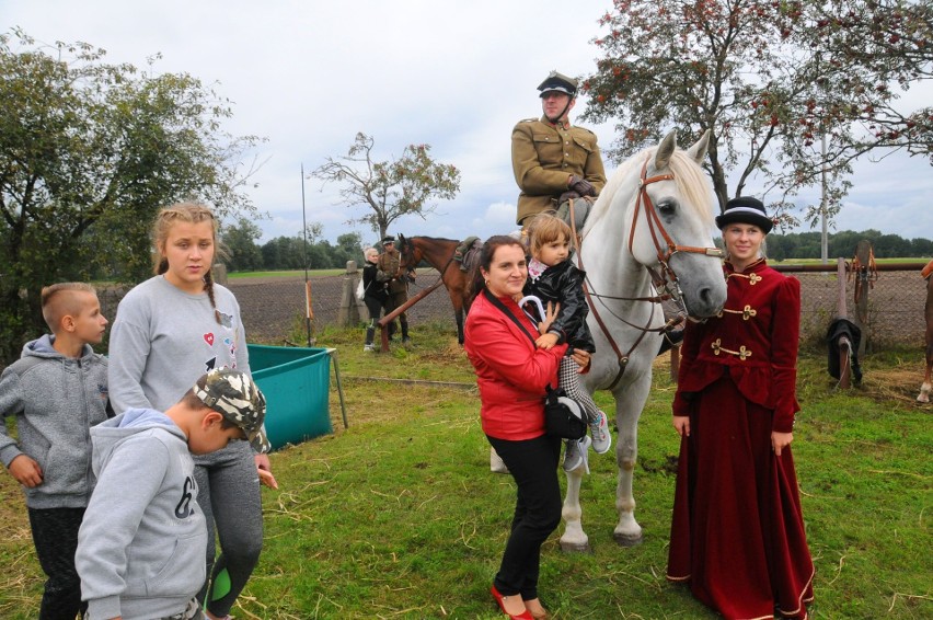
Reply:
<svg viewBox="0 0 933 620"><path fill-rule="evenodd" d="M617 120L615 158L671 127L710 129L721 208L727 171L737 173L732 195L757 176L791 222L791 197L823 172L827 213L838 213L861 154L905 149L933 161L933 108L899 101L931 78L930 2L615 0L600 25L608 32L595 41L602 57L584 82L584 118ZM806 217L818 214L811 206Z"/></svg>

